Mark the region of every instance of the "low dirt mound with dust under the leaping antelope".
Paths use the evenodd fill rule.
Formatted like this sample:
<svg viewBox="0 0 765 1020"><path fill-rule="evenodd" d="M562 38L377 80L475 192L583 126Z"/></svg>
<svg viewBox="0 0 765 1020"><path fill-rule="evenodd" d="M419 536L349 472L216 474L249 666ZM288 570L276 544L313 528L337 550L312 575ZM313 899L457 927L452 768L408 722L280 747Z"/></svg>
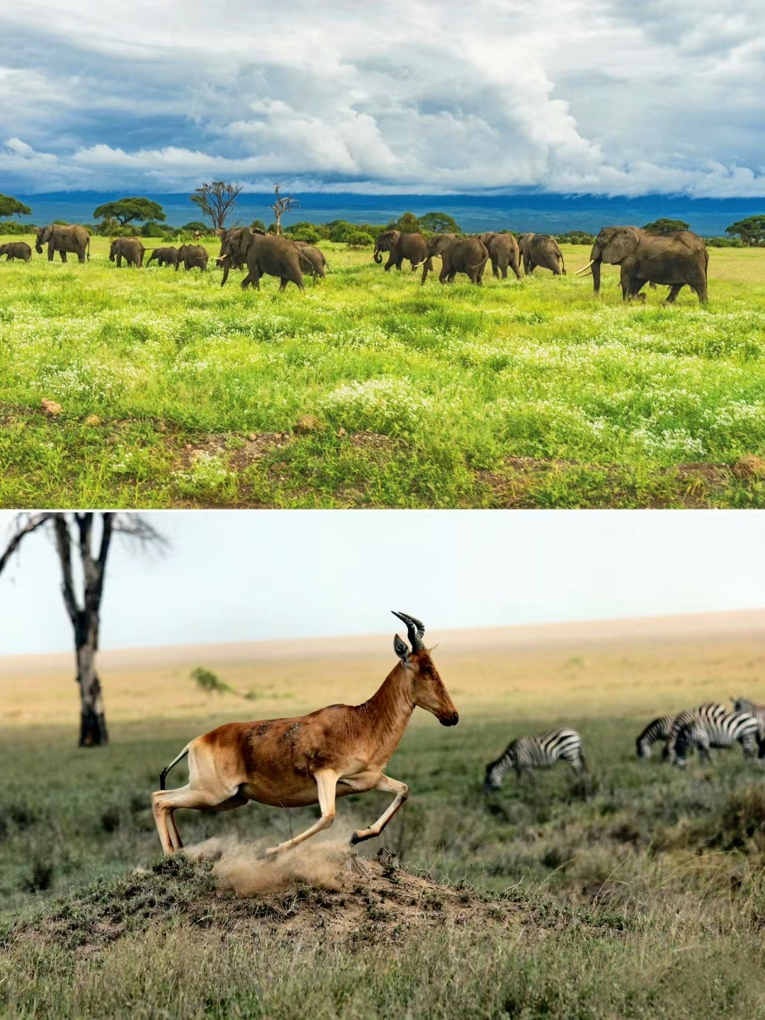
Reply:
<svg viewBox="0 0 765 1020"><path fill-rule="evenodd" d="M238 937L266 926L290 934L320 930L322 938L340 941L386 940L394 931L418 927L517 926L524 911L514 897L442 885L412 874L385 850L376 858L361 858L347 845L324 844L292 862L285 855L270 869L263 862L249 875L241 867L242 854L240 847L235 858L230 849L216 864L176 855L151 871L96 882L0 931L0 948L42 941L89 955L129 934L178 921L236 931ZM232 887L238 882L239 891ZM252 887L267 888L269 882L279 887Z"/></svg>

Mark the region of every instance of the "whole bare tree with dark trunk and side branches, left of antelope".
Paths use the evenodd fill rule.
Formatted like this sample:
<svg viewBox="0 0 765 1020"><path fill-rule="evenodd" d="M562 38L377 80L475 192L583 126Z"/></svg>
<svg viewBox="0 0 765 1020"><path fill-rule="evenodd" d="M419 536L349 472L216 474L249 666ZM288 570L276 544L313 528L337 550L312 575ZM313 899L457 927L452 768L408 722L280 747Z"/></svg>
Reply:
<svg viewBox="0 0 765 1020"><path fill-rule="evenodd" d="M101 624L101 599L109 548L114 533L126 534L142 546L166 545L162 536L139 514L101 513L101 536L98 553L94 555L94 521L87 513L21 514L5 552L0 556L0 573L21 542L39 528L50 525L55 537L56 552L61 566L61 592L74 631L76 683L80 687L80 747L106 744L103 692L96 671L96 653ZM75 547L82 567L82 582L78 585L72 569L72 547ZM78 586L82 592L78 594Z"/></svg>

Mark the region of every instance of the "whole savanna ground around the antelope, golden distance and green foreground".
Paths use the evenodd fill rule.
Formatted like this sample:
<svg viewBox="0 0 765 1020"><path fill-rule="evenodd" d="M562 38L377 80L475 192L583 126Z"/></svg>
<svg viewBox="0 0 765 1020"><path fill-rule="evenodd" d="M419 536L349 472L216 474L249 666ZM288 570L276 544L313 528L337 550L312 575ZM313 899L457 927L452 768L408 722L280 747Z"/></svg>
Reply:
<svg viewBox="0 0 765 1020"><path fill-rule="evenodd" d="M103 653L99 750L73 746L67 657L2 660L0 1011L765 1016L762 767L737 747L684 771L634 753L660 713L765 701L764 628L746 613L429 635L459 725L415 713L388 770L410 800L355 863L344 842L382 795L343 799L280 872L258 849L314 809L182 812L187 846L217 860L162 861L157 774L224 720L364 700L389 636ZM251 700L201 692L197 665ZM483 792L511 737L563 723L584 780L558 766Z"/></svg>

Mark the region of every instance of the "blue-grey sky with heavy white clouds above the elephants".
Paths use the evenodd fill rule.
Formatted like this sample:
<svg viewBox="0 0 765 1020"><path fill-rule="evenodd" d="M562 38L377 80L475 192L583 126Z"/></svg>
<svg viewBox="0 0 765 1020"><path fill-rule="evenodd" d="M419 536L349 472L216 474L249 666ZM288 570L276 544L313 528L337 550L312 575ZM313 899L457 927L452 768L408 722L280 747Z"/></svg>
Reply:
<svg viewBox="0 0 765 1020"><path fill-rule="evenodd" d="M762 0L0 0L0 191L765 195Z"/></svg>

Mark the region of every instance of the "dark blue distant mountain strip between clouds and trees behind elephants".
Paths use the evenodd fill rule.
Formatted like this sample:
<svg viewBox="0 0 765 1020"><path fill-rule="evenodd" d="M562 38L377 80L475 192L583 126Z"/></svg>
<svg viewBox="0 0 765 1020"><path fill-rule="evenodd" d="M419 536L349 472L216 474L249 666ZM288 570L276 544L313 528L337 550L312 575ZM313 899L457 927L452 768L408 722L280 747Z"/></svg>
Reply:
<svg viewBox="0 0 765 1020"><path fill-rule="evenodd" d="M45 223L53 219L67 222L90 222L93 210L103 202L121 198L122 193L62 192L46 195L17 195L32 208L30 222ZM167 222L182 225L199 219L199 210L188 195L146 196L159 202ZM765 212L765 198L694 199L685 195L644 195L639 198L605 198L600 195L550 195L518 193L514 195L357 195L357 194L297 194L300 209L285 219L285 225L299 220L314 223L333 219L350 222L387 223L401 213L416 215L425 212L448 212L464 231L509 228L563 234L579 230L596 234L604 224L644 223L666 216L683 219L691 230L704 237L718 237L725 227L746 216ZM249 223L255 218L266 223L272 219L268 208L273 195L242 194L235 219Z"/></svg>

